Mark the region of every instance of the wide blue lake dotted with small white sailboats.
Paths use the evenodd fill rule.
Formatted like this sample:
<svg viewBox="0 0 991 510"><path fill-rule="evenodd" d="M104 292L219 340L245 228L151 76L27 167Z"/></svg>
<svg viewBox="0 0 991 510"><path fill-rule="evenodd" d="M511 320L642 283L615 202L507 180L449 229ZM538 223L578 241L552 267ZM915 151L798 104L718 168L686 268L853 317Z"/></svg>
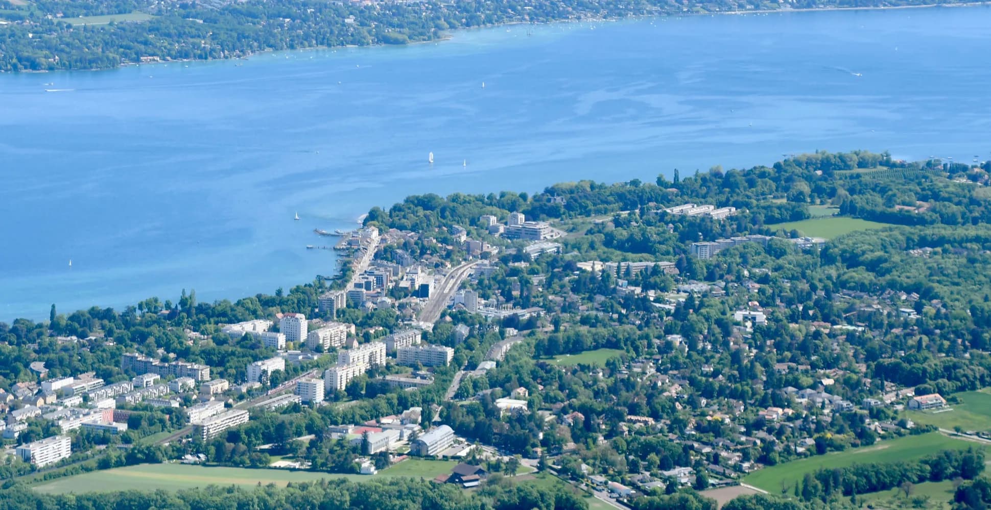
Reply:
<svg viewBox="0 0 991 510"><path fill-rule="evenodd" d="M989 21L973 7L514 26L0 75L0 320L288 288L334 271L305 250L333 241L314 228L411 193L819 149L984 159Z"/></svg>

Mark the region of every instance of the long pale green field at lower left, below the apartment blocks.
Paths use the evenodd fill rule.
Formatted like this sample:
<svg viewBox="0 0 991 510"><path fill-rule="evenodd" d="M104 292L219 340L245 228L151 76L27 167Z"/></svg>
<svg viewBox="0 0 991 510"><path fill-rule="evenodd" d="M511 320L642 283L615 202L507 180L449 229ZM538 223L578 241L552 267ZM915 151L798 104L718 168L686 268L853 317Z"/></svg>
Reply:
<svg viewBox="0 0 991 510"><path fill-rule="evenodd" d="M39 492L63 494L68 492L100 492L112 490L178 490L206 485L253 486L290 481L311 481L321 478L346 478L365 481L373 478L410 476L431 479L449 472L454 460L408 459L387 467L376 475L335 474L326 472L290 471L285 469L248 469L244 467L206 467L180 463L139 464L102 471L91 471L58 478L34 486Z"/></svg>

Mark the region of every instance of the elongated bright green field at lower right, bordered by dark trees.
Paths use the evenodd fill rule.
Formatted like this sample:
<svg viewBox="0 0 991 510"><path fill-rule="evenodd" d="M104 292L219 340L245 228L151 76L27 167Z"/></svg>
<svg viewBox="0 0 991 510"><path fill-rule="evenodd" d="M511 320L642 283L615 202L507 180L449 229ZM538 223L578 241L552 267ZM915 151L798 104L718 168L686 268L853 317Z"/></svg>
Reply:
<svg viewBox="0 0 991 510"><path fill-rule="evenodd" d="M968 447L979 446L975 443L947 438L934 432L922 436L908 436L891 441L882 441L869 447L851 449L845 452L780 463L752 472L745 476L743 481L772 494L780 494L782 482L787 487L794 487L795 483L801 481L807 472L813 472L817 469L844 467L855 463L919 459L940 450L963 450Z"/></svg>

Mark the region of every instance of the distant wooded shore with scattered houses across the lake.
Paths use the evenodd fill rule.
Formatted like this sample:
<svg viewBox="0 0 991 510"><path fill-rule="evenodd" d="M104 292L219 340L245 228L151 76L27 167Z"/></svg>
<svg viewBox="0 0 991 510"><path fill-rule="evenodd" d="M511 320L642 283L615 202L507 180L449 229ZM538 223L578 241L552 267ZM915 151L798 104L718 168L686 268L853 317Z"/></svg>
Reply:
<svg viewBox="0 0 991 510"><path fill-rule="evenodd" d="M925 1L925 0L924 0ZM848 6L843 0L792 0L784 8L753 2L754 9L726 11L715 0L532 0L518 12L510 0L478 4L354 2L300 4L295 0L248 0L219 8L199 3L139 0L133 12L114 5L80 3L72 11L54 3L9 4L0 10L0 72L95 70L160 61L244 58L267 51L408 45L447 39L461 29L510 24L603 22L652 16L770 14L829 10L964 7L989 2L874 0ZM248 8L250 7L250 9ZM52 12L48 12L52 11ZM84 29L83 29L84 28Z"/></svg>

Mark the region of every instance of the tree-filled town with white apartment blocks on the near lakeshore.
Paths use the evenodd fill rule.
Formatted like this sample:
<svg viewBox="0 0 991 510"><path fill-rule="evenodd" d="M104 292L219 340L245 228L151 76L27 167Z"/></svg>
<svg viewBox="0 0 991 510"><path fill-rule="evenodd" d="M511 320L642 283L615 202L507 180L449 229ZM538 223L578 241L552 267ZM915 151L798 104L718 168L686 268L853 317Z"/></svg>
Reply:
<svg viewBox="0 0 991 510"><path fill-rule="evenodd" d="M989 171L411 196L335 277L53 305L0 323L0 506L985 508Z"/></svg>

